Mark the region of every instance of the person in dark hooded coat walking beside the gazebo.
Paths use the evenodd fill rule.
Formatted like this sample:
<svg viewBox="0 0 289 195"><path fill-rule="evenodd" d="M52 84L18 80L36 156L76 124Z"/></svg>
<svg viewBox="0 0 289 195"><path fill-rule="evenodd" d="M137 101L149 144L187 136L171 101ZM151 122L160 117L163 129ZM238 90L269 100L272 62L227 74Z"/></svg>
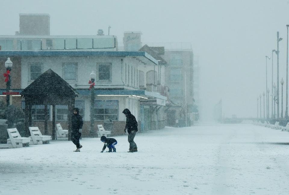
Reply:
<svg viewBox="0 0 289 195"><path fill-rule="evenodd" d="M82 145L79 144L79 138L82 133L82 117L79 115L79 109L73 109L73 116L71 117L71 141L76 145L76 150L74 152L80 152Z"/></svg>

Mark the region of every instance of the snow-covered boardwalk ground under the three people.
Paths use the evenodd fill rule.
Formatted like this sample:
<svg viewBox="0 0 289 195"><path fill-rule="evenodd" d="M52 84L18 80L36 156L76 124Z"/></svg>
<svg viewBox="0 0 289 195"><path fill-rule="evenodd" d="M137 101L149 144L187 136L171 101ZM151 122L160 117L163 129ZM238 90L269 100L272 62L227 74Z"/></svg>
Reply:
<svg viewBox="0 0 289 195"><path fill-rule="evenodd" d="M255 125L198 125L0 150L0 194L288 194L289 133ZM106 149L107 150L107 149Z"/></svg>

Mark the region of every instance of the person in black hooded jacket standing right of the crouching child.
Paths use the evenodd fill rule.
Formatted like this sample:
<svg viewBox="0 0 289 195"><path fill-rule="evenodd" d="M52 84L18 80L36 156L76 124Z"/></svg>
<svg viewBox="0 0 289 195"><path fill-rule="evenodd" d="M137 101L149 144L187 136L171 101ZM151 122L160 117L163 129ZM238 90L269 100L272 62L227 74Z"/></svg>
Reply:
<svg viewBox="0 0 289 195"><path fill-rule="evenodd" d="M137 152L138 147L136 146L133 139L135 138L135 134L138 131L138 122L135 119L135 116L129 111L129 109L124 109L123 113L126 115L126 127L124 128L124 132L129 133L128 142L129 142L129 151L128 152Z"/></svg>

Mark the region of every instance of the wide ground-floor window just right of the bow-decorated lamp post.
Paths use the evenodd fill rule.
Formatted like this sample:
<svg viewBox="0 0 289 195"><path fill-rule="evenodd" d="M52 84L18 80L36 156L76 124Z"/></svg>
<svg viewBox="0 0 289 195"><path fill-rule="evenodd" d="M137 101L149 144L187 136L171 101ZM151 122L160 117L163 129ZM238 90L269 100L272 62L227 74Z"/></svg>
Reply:
<svg viewBox="0 0 289 195"><path fill-rule="evenodd" d="M94 119L105 120L111 119L118 120L118 101L95 101L94 104Z"/></svg>

